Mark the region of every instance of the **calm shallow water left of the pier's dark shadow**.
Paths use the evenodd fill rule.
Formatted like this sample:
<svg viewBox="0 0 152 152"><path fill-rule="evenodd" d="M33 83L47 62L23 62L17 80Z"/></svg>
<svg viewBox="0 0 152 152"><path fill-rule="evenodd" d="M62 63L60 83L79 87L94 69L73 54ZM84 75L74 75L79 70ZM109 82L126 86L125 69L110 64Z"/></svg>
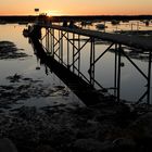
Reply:
<svg viewBox="0 0 152 152"><path fill-rule="evenodd" d="M24 38L22 35L24 28L25 26L17 24L0 25L0 41L11 41L17 49L21 49L18 50L20 52L24 52L28 55L18 59L0 60L0 86L14 87L12 90L9 90L15 97L11 97L11 103L8 99L9 103L5 104L9 105L9 109L16 109L22 105L37 107L60 104L67 106L73 106L74 104L83 105L80 100L53 73L48 69L48 75L46 74L47 67L40 65L34 54L33 47L28 43L28 39ZM15 75L22 78L11 83L8 77L14 78ZM24 85L30 86L28 90L20 89L20 87L23 88ZM49 91L49 89L51 90L50 92L45 92ZM38 90L40 92L37 92ZM4 92L1 92L1 102L4 101L7 91L8 89L4 89ZM26 96L29 91L33 93L27 98L20 98L20 94ZM39 96L41 93L46 96Z"/></svg>

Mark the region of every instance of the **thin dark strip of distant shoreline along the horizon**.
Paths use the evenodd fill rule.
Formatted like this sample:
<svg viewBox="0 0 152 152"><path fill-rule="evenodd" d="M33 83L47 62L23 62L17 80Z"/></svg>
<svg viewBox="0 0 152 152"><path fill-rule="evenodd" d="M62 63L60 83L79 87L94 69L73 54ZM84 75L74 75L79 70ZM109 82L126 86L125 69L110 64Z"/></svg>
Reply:
<svg viewBox="0 0 152 152"><path fill-rule="evenodd" d="M7 23L17 22L35 22L36 15L0 15L0 21ZM136 20L152 20L152 15L66 15L66 16L52 16L52 22L63 21L136 21Z"/></svg>

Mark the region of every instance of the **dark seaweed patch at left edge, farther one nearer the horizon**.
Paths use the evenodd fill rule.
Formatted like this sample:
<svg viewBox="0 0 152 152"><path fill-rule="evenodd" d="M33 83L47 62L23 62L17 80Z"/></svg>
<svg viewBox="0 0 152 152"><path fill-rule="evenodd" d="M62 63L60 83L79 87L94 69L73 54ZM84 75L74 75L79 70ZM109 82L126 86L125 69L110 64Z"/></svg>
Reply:
<svg viewBox="0 0 152 152"><path fill-rule="evenodd" d="M26 53L21 52L23 49L17 49L11 41L0 41L0 60L21 59L28 56Z"/></svg>

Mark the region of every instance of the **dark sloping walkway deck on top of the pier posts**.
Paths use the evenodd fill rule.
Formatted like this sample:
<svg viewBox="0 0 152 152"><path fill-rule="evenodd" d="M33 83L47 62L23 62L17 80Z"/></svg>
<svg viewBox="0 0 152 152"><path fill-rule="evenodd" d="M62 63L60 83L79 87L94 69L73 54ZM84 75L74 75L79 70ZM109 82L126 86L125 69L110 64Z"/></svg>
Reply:
<svg viewBox="0 0 152 152"><path fill-rule="evenodd" d="M152 50L152 40L148 37L141 36L128 36L122 34L110 34L110 33L102 33L97 30L90 29L80 29L80 28L69 28L63 27L59 25L40 25L41 27L49 27L58 30L74 33L83 36L93 37L102 39L103 41L111 41L114 43L121 43L132 48L142 49L145 51Z"/></svg>

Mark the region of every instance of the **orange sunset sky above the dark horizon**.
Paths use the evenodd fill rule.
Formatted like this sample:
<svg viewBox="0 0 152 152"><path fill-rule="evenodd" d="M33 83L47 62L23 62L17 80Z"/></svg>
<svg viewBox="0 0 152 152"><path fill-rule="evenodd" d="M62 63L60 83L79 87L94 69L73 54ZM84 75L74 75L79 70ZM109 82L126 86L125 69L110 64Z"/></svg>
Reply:
<svg viewBox="0 0 152 152"><path fill-rule="evenodd" d="M152 15L152 0L0 0L0 15Z"/></svg>

